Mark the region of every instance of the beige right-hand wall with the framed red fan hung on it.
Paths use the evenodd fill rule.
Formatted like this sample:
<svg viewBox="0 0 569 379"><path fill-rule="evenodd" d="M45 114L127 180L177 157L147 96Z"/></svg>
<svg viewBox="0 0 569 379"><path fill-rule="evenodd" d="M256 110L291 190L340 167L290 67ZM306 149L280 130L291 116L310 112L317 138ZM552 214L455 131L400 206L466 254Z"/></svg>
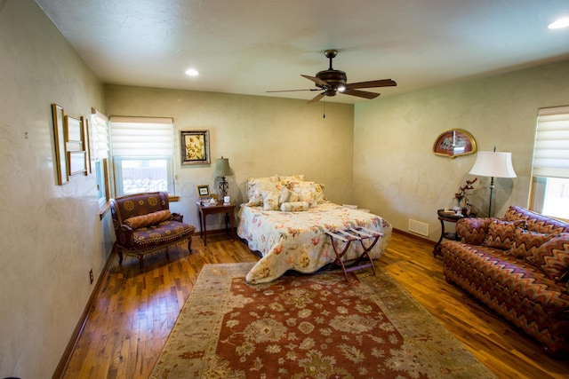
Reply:
<svg viewBox="0 0 569 379"><path fill-rule="evenodd" d="M404 79L404 78L402 78ZM403 80L401 80L403 82ZM432 154L445 130L468 130L478 151L512 153L517 178L496 178L493 216L527 206L537 110L569 104L569 61L358 103L354 126L354 201L406 231L410 218L429 224L437 240L437 209L453 207L476 155ZM487 215L490 178L471 197ZM452 225L451 225L452 226Z"/></svg>

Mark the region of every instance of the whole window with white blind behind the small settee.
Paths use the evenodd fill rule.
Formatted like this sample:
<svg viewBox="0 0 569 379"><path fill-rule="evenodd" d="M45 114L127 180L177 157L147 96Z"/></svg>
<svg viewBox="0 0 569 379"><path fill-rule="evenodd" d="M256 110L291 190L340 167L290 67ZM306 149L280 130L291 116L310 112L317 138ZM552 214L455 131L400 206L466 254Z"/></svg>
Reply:
<svg viewBox="0 0 569 379"><path fill-rule="evenodd" d="M174 193L172 118L111 116L116 196Z"/></svg>

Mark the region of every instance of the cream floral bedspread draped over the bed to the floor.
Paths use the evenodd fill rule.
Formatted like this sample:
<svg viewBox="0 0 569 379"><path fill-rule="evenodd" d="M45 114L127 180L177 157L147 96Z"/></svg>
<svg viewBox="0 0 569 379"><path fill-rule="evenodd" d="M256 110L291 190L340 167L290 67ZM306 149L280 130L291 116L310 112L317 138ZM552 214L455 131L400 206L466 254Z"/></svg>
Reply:
<svg viewBox="0 0 569 379"><path fill-rule="evenodd" d="M249 249L259 251L262 256L245 280L263 283L275 280L287 270L316 272L335 259L330 237L325 232L350 226L384 233L370 253L373 259L381 257L387 249L392 227L372 213L330 202L299 212L263 210L243 204L239 209L237 234L248 242ZM337 249L343 249L343 242L336 243ZM354 259L362 252L361 244L352 242L344 258Z"/></svg>

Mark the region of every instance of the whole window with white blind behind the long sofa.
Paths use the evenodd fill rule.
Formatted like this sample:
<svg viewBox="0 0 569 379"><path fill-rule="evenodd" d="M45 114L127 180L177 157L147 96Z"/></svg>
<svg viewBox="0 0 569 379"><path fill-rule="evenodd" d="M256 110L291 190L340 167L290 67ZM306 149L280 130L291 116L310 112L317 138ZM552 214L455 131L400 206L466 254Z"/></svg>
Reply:
<svg viewBox="0 0 569 379"><path fill-rule="evenodd" d="M530 209L569 219L569 107L538 112Z"/></svg>

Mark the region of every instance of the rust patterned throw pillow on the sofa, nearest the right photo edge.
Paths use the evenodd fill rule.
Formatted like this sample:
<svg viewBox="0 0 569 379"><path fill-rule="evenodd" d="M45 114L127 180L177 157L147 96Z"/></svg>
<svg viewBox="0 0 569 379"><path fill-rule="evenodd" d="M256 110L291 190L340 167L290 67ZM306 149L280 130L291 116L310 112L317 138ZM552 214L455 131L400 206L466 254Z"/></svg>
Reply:
<svg viewBox="0 0 569 379"><path fill-rule="evenodd" d="M561 233L533 249L525 260L545 272L552 280L561 280L569 271L569 233Z"/></svg>

